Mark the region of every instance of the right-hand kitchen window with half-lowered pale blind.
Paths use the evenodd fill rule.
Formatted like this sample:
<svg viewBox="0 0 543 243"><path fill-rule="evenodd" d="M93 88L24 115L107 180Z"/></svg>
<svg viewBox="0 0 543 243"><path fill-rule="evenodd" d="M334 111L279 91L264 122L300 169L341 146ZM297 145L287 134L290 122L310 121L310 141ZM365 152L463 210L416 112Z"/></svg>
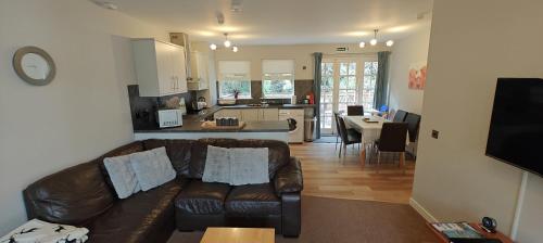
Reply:
<svg viewBox="0 0 543 243"><path fill-rule="evenodd" d="M264 60L262 73L264 98L289 99L294 94L294 60Z"/></svg>

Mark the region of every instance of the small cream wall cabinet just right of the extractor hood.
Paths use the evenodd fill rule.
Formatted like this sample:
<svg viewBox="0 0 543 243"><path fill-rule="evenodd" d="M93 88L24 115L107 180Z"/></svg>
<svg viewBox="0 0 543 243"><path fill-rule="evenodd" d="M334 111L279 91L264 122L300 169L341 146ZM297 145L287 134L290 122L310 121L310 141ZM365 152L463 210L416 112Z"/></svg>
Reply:
<svg viewBox="0 0 543 243"><path fill-rule="evenodd" d="M207 76L210 56L200 51L190 52L190 73L192 80L188 82L189 90L205 90L210 88Z"/></svg>

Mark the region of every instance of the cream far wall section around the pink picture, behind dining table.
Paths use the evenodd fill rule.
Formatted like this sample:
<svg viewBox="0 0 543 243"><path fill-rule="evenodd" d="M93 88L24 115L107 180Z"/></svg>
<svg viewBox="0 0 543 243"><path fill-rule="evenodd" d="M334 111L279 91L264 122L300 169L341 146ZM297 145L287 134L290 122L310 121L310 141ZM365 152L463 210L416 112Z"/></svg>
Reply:
<svg viewBox="0 0 543 243"><path fill-rule="evenodd" d="M430 26L412 34L405 39L395 41L390 55L389 104L390 107L421 114L424 90L407 87L409 66L426 62L430 42Z"/></svg>

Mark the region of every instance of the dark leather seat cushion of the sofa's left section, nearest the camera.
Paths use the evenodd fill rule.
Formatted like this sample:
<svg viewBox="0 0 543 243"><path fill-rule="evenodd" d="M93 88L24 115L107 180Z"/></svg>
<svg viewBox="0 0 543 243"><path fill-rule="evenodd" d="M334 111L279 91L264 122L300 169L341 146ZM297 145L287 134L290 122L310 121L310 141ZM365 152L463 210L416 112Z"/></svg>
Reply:
<svg viewBox="0 0 543 243"><path fill-rule="evenodd" d="M173 180L118 201L85 226L90 231L89 242L152 242L174 220L174 201L182 184Z"/></svg>

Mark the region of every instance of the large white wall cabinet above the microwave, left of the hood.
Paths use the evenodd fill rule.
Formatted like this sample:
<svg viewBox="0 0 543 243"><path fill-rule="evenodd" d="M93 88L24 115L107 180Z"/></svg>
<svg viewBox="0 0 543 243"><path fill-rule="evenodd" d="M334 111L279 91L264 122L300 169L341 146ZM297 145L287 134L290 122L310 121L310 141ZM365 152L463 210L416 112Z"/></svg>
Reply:
<svg viewBox="0 0 543 243"><path fill-rule="evenodd" d="M188 91L185 48L155 39L134 39L132 53L140 97Z"/></svg>

